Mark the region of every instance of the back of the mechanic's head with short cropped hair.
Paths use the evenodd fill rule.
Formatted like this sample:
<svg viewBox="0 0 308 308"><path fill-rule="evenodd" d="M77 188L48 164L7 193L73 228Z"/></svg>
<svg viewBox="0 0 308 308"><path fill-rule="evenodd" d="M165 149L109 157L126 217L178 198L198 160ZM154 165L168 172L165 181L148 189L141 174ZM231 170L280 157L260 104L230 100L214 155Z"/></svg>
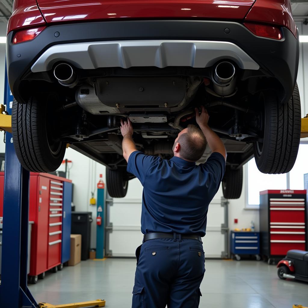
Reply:
<svg viewBox="0 0 308 308"><path fill-rule="evenodd" d="M197 161L206 148L206 139L202 131L195 125L188 125L174 141L172 150L174 156L188 161Z"/></svg>

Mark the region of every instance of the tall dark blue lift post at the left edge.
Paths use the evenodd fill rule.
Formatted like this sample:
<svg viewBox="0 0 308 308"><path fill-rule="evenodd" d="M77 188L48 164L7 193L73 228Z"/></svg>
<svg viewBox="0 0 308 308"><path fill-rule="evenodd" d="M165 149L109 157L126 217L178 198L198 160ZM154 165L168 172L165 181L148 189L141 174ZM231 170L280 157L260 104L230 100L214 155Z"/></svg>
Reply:
<svg viewBox="0 0 308 308"><path fill-rule="evenodd" d="M13 96L5 74L4 102L12 113ZM6 132L1 308L36 308L37 303L27 287L27 251L29 221L29 171L20 165L12 134Z"/></svg>

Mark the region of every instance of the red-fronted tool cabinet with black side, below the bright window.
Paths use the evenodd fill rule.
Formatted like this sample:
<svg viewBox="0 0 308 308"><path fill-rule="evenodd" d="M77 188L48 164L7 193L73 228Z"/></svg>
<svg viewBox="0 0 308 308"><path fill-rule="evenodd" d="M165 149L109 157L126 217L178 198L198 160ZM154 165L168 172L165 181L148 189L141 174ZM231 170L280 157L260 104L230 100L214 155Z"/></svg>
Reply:
<svg viewBox="0 0 308 308"><path fill-rule="evenodd" d="M260 192L261 254L272 259L307 250L306 190Z"/></svg>

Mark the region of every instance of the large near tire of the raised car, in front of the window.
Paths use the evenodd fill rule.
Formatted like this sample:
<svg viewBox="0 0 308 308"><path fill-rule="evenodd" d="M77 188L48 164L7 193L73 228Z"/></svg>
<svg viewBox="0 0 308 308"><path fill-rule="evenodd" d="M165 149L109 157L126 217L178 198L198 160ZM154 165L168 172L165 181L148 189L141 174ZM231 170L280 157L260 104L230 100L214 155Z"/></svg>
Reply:
<svg viewBox="0 0 308 308"><path fill-rule="evenodd" d="M277 95L261 93L264 104L264 139L255 142L254 157L263 173L289 172L295 163L301 134L301 102L297 84L286 104L279 104Z"/></svg>

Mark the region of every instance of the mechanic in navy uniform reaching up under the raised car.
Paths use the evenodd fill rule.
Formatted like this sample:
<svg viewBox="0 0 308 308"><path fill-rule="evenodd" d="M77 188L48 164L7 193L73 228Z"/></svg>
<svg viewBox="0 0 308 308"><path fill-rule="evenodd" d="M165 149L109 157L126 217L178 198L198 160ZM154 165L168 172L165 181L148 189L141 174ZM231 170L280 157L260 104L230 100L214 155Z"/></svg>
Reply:
<svg viewBox="0 0 308 308"><path fill-rule="evenodd" d="M182 130L174 157L163 160L138 151L132 123L121 120L127 171L143 185L141 231L132 308L198 307L205 273L201 237L205 236L209 203L225 172L226 150L209 128L209 114L196 108L197 124ZM206 143L212 150L196 165Z"/></svg>

